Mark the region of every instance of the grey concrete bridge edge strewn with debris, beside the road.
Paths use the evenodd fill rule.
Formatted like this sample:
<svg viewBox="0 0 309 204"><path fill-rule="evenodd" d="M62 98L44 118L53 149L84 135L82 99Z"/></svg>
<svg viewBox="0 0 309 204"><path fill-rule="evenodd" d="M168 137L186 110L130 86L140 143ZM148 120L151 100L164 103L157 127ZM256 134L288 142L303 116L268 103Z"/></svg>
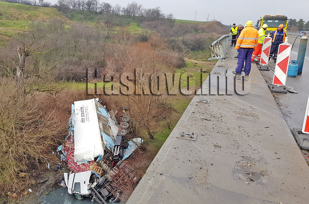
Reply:
<svg viewBox="0 0 309 204"><path fill-rule="evenodd" d="M235 55L231 47L212 72L232 68L230 76ZM127 204L308 203L308 165L255 64L247 77L247 95L229 87L234 94L193 98ZM182 131L196 141L176 138Z"/></svg>

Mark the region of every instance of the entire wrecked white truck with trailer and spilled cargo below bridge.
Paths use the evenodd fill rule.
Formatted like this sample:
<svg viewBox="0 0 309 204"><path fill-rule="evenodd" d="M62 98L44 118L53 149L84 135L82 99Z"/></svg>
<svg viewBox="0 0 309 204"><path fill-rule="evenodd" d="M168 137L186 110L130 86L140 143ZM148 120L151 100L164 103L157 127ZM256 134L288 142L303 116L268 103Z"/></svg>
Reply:
<svg viewBox="0 0 309 204"><path fill-rule="evenodd" d="M93 201L106 204L120 200L121 195L113 194L113 176L121 173L121 168L126 165L123 161L143 140L123 140L130 120L128 106L124 107L118 125L115 113L108 112L101 102L96 98L72 104L69 135L57 151L72 170L69 176L64 173L68 193L78 199L92 197Z"/></svg>

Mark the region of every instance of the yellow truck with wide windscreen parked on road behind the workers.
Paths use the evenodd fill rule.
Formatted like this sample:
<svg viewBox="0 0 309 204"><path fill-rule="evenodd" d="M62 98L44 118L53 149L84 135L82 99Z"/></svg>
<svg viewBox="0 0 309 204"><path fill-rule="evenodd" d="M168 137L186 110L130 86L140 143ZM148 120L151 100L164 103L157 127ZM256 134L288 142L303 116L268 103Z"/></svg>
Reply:
<svg viewBox="0 0 309 204"><path fill-rule="evenodd" d="M260 29L263 24L268 25L265 36L267 36L268 33L271 34L280 24L283 24L284 31L290 29L290 27L288 27L288 18L285 15L265 15L260 17L256 24L258 25L257 29Z"/></svg>

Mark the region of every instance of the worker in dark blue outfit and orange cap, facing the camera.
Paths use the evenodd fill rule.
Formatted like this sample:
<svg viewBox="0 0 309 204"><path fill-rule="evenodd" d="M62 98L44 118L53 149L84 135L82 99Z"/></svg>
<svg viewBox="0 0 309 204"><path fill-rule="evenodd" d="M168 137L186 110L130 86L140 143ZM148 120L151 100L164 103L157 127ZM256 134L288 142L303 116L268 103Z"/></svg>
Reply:
<svg viewBox="0 0 309 204"><path fill-rule="evenodd" d="M273 56L274 62L276 63L278 48L281 43L283 43L286 39L286 32L283 30L284 25L280 24L278 29L273 31L270 37L273 38L272 44L270 47L269 59Z"/></svg>

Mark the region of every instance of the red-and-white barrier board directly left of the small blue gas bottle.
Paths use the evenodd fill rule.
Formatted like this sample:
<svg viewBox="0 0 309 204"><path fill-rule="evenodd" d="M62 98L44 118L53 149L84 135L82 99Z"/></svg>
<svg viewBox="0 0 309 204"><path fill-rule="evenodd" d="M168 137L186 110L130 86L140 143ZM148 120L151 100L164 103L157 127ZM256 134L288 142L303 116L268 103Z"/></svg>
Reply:
<svg viewBox="0 0 309 204"><path fill-rule="evenodd" d="M292 45L287 42L279 45L277 62L273 75L273 85L286 85L286 75L288 72L291 49Z"/></svg>

